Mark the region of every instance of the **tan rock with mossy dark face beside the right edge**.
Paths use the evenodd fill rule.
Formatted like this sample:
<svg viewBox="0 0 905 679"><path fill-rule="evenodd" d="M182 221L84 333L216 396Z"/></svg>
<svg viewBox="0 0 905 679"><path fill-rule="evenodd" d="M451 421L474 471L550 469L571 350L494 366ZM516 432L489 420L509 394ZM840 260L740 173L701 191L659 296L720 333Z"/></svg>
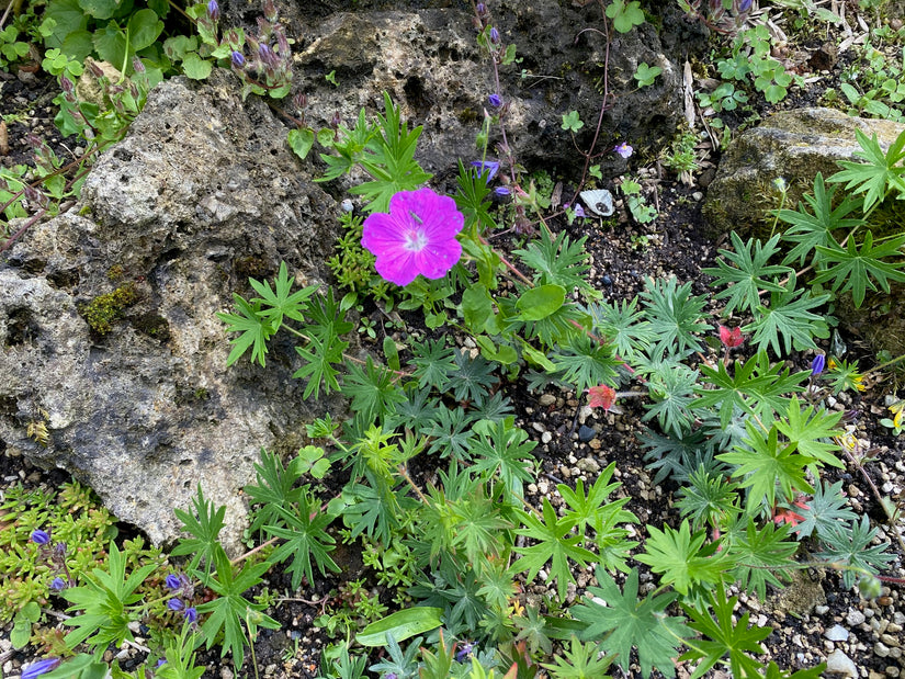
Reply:
<svg viewBox="0 0 905 679"><path fill-rule="evenodd" d="M767 211L779 205L773 181L785 181L785 206L794 208L802 193L813 186L817 172L826 179L841 169L838 160L862 160L855 156L861 149L856 129L868 136L875 134L887 147L905 125L849 117L835 109L795 109L781 111L744 132L726 149L708 188L703 210L711 234L715 237L744 224L759 225L755 230L760 235Z"/></svg>

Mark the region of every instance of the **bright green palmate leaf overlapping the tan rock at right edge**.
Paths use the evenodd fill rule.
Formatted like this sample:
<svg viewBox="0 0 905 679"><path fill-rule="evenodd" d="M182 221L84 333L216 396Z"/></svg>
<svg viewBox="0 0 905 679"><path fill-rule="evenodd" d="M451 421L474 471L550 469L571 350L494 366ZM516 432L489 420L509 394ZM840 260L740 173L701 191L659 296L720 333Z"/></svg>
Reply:
<svg viewBox="0 0 905 679"><path fill-rule="evenodd" d="M842 170L836 172L827 181L848 182L846 189L856 193L864 194L864 212L870 212L874 203L882 203L890 189L897 189L900 193L905 193L905 168L900 163L905 158L905 133L898 135L896 140L890 146L890 150L884 154L874 134L870 139L860 129L855 131L855 136L861 150L855 151L868 162L852 162L850 160L839 160Z"/></svg>

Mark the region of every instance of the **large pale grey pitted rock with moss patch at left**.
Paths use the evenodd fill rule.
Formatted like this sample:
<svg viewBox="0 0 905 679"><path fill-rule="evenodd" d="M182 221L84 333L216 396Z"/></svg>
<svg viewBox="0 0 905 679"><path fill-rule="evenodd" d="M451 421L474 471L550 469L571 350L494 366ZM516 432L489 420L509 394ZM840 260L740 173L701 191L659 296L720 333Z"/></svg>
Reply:
<svg viewBox="0 0 905 679"><path fill-rule="evenodd" d="M200 485L227 508L231 552L261 448L294 451L316 412L289 343L267 369L227 370L215 313L281 261L325 280L337 211L268 105L237 92L227 71L161 83L98 160L84 207L32 227L0 268L8 451L68 471L155 543L178 535L172 510L191 510Z"/></svg>

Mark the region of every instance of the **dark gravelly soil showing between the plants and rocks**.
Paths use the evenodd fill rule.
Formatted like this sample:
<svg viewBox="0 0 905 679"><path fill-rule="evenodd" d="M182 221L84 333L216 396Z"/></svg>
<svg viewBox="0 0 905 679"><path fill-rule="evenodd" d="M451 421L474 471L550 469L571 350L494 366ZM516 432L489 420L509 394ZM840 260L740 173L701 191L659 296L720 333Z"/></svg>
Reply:
<svg viewBox="0 0 905 679"><path fill-rule="evenodd" d="M336 10L333 4L336 3L328 1L316 2L313 11L320 16ZM857 3L849 2L848 7L855 11ZM799 63L805 64L806 59L821 52L824 44L825 37L806 38L804 43L789 47L789 58L791 61L797 59ZM821 80L805 90L793 89L781 107L815 105L826 88L838 89L839 75L847 59L850 57L844 56L832 64L827 61L825 65L828 68ZM69 156L72 152L75 143L61 139L53 125L56 110L52 99L57 94L55 79L41 70L20 71L18 77L0 72L0 115L8 121L9 137L9 151L0 157L0 163L12 166L32 162L30 134L46 140L59 156ZM758 117L769 115L772 110L776 110L776 106L771 107L761 102L755 111L727 114L723 115L723 118L731 126L738 128L753 124ZM663 168L656 159L634 159L634 167L646 167L645 193L651 202L656 204L659 213L658 218L652 224L637 224L619 202L616 216L611 220L578 219L569 226L562 215L554 217L554 230L566 229L573 238L587 236L586 248L591 257L593 284L603 291L607 299L631 299L643 290L645 278L672 274L679 282L691 281L693 294L710 297L709 308L713 312L714 320L719 316L720 305L711 297L711 280L702 270L714 265L714 258L723 244L714 242L704 236L701 203L706 184L719 162L720 152L712 143L703 143L700 150L706 160L694 173L691 184L678 181L675 172ZM531 169L528 168L529 171ZM562 194L572 196L574 191L575 186L567 185ZM514 247L517 239L514 236L511 238L509 247ZM369 310L380 327L381 313L376 308L366 309ZM873 366L875 357L872 350L858 337L847 333L845 328L840 329L840 333L849 347L849 358L858 360L862 369ZM377 338L377 346L382 339ZM743 347L737 357L744 355ZM702 360L714 361L716 357L717 350L713 347L710 355L702 357ZM795 367L804 369L808 363L810 358L800 357L796 359ZM540 462L540 474L536 482L528 487L529 501L540 507L542 499L550 496L550 490L557 483L572 484L576 477L587 480L589 475L592 480L592 465L597 465L599 469L609 462L615 462L615 480L622 483L620 494L630 498L625 509L638 518L641 527L659 527L667 518L678 516L678 510L674 506L674 493L677 490L675 484L664 482L654 485L654 473L646 468L644 449L637 440L637 434L644 428L641 418L645 412L638 400L625 399L621 414L588 414L582 412L580 399L574 393L563 393L556 388L550 388L545 394L533 393L523 380L505 385L505 389L516 408L517 423L538 441L535 455ZM876 451L876 456L867 466L867 472L878 486L886 483L890 474L894 474L894 471L902 466L902 442L879 425L880 414L885 412L885 393L887 387L879 385L850 397L850 403L844 404L847 409L853 411L851 417L859 425L859 435L869 439ZM552 435L546 437L546 433ZM593 463L588 463L588 460ZM430 468L426 466L420 473L429 475ZM902 476L900 473L900 477ZM0 482L3 485L22 482L26 487L57 487L67 478L66 474L58 471L35 468L22 457L7 453L0 455ZM830 469L825 478L830 483L842 480L852 503L860 507L861 511L867 511L874 521L882 520L882 511L873 499L871 488L858 472L851 468ZM128 527L123 527L124 534L128 534L129 530ZM643 531L638 531L636 539L643 539ZM893 564L890 572L901 575L905 555L896 550L893 541L891 552L897 555L898 561ZM281 623L281 629L274 632L262 631L254 645L256 664L262 668L264 676L318 676L320 649L330 640L321 629L314 626L315 619L339 601L338 592L343 582L364 577L370 585L376 586L374 574L363 565L361 554L357 550L340 542L332 556L343 566L340 576L319 578L314 584L303 586L294 597L281 599L279 604L268 611L268 614ZM643 581L651 585L652 578L647 567L634 565L640 566ZM832 642L823 637L826 629L840 621L846 624L845 621L851 611L872 610L874 612L868 615L869 620L862 627L851 629L852 633L861 635L864 642L863 653L852 659L861 668L863 677L896 677L900 676L900 671L905 671L902 659L896 661L892 657L881 657L873 653L874 643L880 634L876 634L875 630L871 631L868 624L870 619L893 620L896 613L905 611L901 591L887 590L881 599L867 603L855 592L846 590L836 573L804 574L803 577L817 584L815 589L819 590L822 585L822 591L825 592L825 602L818 603L816 609L812 604L796 604L782 597L758 602L743 596L743 603L736 614L750 612L756 624L773 629L773 633L763 642L768 649L765 659L774 659L780 667L789 670L816 665L828 653L827 643L832 645ZM579 584L587 584L588 580L587 574L579 577ZM265 584L272 591L284 592L291 591L290 581L290 576L278 567L270 572ZM527 599L542 600L544 593L543 585L525 584ZM576 588L574 595L580 597L582 586ZM388 596L385 598L387 600L384 602L389 603ZM57 603L61 609L64 602L60 600ZM0 665L8 658L11 658L15 666L29 661L26 653L16 652L4 656L0 659ZM203 661L207 668L205 678L233 676L231 665L228 659L222 660L218 652L202 650L199 658L199 664ZM135 654L133 658L123 663L123 668L137 667L143 659L142 654ZM247 674L248 666L247 664L246 669L239 672L240 676L250 676ZM679 676L688 675L688 666L681 666ZM711 676L716 677L720 674L711 672Z"/></svg>

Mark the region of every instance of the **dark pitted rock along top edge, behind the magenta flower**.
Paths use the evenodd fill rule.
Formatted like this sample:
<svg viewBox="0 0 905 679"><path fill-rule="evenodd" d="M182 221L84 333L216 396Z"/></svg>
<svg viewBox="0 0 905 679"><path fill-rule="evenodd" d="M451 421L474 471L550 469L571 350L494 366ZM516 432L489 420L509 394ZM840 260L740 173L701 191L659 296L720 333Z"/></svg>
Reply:
<svg viewBox="0 0 905 679"><path fill-rule="evenodd" d="M249 23L248 5L223 3L223 26ZM383 109L383 92L401 107L412 125L422 125L418 159L434 173L449 172L456 158L477 158L475 134L490 110L487 98L496 91L489 57L477 45L473 14L460 9L372 10L327 13L310 21L308 3L276 2L287 34L295 37L294 88L305 92L305 118L315 128L328 126L338 114L352 126L362 106L374 114ZM299 11L305 7L305 12ZM349 3L331 4L343 8ZM645 23L627 34L606 38L597 31L578 33L576 26L599 22L593 7L575 8L558 0L498 0L488 3L491 21L504 45L516 47L518 64L499 67L506 113L507 139L519 162L550 168L574 166L572 133L562 116L577 111L585 126L575 144L590 145L603 94L603 64L609 58L608 102L598 150L604 174L623 171L626 163L607 152L620 140L635 148L672 136L682 115L681 68L688 43L672 46L670 58L660 32ZM680 25L676 14L667 18ZM663 72L649 87L637 88L634 73L641 63ZM339 86L326 76L333 72ZM495 126L490 155L501 142Z"/></svg>

